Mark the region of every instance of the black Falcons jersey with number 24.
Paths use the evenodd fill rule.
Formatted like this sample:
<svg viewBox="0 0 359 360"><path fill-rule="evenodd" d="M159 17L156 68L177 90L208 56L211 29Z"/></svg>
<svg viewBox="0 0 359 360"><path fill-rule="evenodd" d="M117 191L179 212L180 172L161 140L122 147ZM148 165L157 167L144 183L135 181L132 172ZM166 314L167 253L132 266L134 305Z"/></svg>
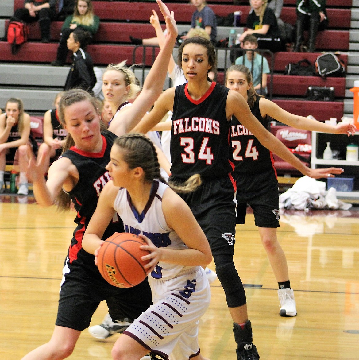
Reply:
<svg viewBox="0 0 359 360"><path fill-rule="evenodd" d="M268 130L269 120L262 118L259 110L260 96L257 96L251 111L259 122ZM234 161L234 173L258 173L273 168L273 154L247 130L234 116L231 121L231 139Z"/></svg>

